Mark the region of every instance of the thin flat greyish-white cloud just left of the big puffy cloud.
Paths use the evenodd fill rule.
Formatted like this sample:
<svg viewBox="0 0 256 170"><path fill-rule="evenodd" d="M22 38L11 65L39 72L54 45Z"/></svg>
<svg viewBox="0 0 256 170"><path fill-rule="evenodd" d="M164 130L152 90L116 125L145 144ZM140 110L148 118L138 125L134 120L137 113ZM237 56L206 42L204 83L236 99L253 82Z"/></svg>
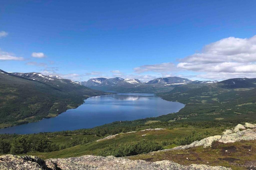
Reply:
<svg viewBox="0 0 256 170"><path fill-rule="evenodd" d="M153 72L166 72L166 71L177 71L174 63L162 63L162 64L152 64L152 65L143 65L133 69L136 73L143 73L147 71Z"/></svg>

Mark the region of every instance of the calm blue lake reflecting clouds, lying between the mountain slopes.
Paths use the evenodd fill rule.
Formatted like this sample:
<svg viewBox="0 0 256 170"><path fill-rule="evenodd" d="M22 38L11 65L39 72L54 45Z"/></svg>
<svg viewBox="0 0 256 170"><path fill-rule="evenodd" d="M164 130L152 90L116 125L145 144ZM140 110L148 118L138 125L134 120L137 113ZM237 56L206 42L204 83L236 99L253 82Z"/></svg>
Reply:
<svg viewBox="0 0 256 170"><path fill-rule="evenodd" d="M90 97L76 109L39 122L0 129L0 133L29 134L92 128L121 120L156 117L179 111L185 105L163 100L154 94L119 93Z"/></svg>

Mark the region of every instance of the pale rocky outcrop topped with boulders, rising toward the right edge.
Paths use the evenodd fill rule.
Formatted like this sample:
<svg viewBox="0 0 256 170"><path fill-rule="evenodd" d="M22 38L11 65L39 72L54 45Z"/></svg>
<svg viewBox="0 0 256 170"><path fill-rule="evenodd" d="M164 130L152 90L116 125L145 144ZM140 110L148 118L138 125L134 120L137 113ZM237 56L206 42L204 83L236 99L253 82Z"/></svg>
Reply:
<svg viewBox="0 0 256 170"><path fill-rule="evenodd" d="M248 125L248 124L247 124ZM245 129L240 131L239 129ZM230 142L239 142L242 140L256 140L256 128L253 129L246 129L243 125L238 124L235 128L234 131L239 130L236 133L229 133L231 131L226 130L223 132L223 135L216 135L216 136L210 136L207 138L204 138L200 141L194 141L193 143L189 145L184 145L184 146L177 146L172 149L164 149L164 150L159 150L157 152L161 151L169 151L169 150L180 150L180 149L188 149L188 148L193 148L193 147L198 147L198 146L203 146L204 148L206 147L211 147L212 142L218 141L222 143L230 143Z"/></svg>

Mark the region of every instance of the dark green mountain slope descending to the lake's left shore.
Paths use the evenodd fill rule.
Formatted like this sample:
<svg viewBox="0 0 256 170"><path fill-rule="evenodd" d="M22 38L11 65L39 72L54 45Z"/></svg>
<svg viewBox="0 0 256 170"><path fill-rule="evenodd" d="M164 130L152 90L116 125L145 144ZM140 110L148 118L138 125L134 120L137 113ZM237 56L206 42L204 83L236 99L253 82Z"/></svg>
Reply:
<svg viewBox="0 0 256 170"><path fill-rule="evenodd" d="M53 117L102 91L54 79L54 83L30 80L0 70L0 127Z"/></svg>

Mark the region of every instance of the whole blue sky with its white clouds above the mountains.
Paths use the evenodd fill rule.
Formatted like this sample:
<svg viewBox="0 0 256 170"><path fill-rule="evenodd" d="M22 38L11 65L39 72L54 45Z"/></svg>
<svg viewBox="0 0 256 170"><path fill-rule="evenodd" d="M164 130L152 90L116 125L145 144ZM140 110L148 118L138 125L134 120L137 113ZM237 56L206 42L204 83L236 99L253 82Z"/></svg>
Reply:
<svg viewBox="0 0 256 170"><path fill-rule="evenodd" d="M256 1L1 1L0 69L93 77L256 77Z"/></svg>

